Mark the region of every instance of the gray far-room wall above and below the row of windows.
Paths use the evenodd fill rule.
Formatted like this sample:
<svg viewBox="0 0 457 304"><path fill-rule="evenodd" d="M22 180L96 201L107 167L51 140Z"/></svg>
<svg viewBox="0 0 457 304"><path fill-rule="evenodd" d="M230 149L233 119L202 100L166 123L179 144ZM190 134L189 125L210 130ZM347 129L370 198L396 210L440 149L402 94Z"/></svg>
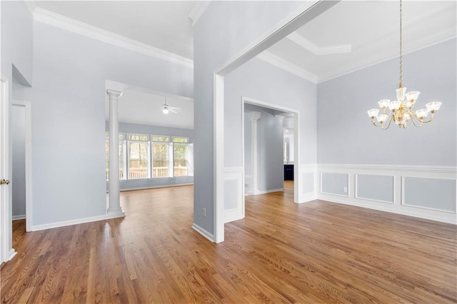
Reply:
<svg viewBox="0 0 457 304"><path fill-rule="evenodd" d="M109 121L106 121L106 131L109 131ZM189 143L194 142L194 130L188 128L169 128L163 126L149 126L137 123L119 123L119 132L141 133L154 135L184 136L189 138ZM179 176L172 178L147 178L121 181L120 188L129 190L135 188L154 188L163 186L176 186L194 183L194 176ZM109 183L106 182L106 190L109 190Z"/></svg>

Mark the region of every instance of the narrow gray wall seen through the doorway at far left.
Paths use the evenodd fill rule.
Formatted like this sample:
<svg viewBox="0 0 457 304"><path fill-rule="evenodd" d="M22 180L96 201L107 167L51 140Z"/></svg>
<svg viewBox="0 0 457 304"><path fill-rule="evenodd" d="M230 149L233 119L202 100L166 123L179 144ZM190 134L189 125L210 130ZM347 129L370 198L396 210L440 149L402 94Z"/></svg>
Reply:
<svg viewBox="0 0 457 304"><path fill-rule="evenodd" d="M13 106L11 133L13 143L12 162L12 213L13 218L26 215L26 111L24 106Z"/></svg>

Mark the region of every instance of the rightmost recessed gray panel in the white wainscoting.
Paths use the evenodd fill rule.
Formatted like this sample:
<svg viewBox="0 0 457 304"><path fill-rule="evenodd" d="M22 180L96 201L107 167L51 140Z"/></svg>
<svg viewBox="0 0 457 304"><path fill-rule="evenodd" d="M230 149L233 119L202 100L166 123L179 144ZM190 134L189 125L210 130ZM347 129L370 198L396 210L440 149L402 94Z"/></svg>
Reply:
<svg viewBox="0 0 457 304"><path fill-rule="evenodd" d="M436 211L456 212L456 181L442 178L402 178L401 204Z"/></svg>

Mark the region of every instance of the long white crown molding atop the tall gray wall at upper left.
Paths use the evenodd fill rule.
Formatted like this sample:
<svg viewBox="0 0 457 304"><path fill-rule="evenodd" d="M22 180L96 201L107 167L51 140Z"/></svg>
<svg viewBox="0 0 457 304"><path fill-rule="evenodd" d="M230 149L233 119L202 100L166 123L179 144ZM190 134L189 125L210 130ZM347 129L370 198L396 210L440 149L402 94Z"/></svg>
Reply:
<svg viewBox="0 0 457 304"><path fill-rule="evenodd" d="M144 44L134 39L129 39L124 36L111 33L110 31L105 31L104 29L99 29L96 26L76 21L66 16L47 11L46 9L41 9L40 7L36 7L34 10L34 20L51 26L56 26L60 29L65 29L66 31L71 31L91 39L113 44L130 51L135 51L146 56L151 56L156 59L169 61L174 64L181 64L182 66L189 68L194 67L194 61L191 59L173 54L169 51L164 51L163 49L158 49L154 46Z"/></svg>

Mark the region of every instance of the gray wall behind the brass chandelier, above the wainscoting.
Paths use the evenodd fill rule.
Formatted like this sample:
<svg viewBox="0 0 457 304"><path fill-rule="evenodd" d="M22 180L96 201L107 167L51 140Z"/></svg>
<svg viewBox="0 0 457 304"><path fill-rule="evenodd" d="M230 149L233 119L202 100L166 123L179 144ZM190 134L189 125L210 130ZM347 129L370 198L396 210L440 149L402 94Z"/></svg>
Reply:
<svg viewBox="0 0 457 304"><path fill-rule="evenodd" d="M456 166L456 39L403 56L408 91L421 91L416 109L442 101L436 119L421 128L387 131L366 111L394 99L398 59L318 84L318 163Z"/></svg>

